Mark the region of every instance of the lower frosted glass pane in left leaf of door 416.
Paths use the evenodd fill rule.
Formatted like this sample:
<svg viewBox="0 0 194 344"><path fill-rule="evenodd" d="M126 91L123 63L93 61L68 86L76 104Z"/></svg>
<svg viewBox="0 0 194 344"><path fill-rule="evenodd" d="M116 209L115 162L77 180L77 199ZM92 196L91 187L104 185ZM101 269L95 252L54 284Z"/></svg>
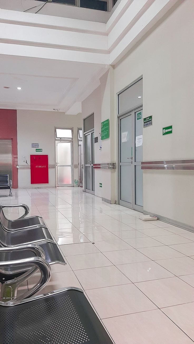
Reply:
<svg viewBox="0 0 194 344"><path fill-rule="evenodd" d="M121 184L120 184L120 198L121 201L132 203L132 188L131 188L131 166L122 165L121 170Z"/></svg>

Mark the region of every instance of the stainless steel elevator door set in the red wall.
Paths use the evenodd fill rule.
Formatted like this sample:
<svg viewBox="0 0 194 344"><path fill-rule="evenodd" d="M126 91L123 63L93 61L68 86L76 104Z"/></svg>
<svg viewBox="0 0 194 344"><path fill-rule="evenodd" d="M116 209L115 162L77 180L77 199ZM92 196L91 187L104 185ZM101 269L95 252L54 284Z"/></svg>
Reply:
<svg viewBox="0 0 194 344"><path fill-rule="evenodd" d="M0 174L9 174L12 179L11 140L0 140Z"/></svg>

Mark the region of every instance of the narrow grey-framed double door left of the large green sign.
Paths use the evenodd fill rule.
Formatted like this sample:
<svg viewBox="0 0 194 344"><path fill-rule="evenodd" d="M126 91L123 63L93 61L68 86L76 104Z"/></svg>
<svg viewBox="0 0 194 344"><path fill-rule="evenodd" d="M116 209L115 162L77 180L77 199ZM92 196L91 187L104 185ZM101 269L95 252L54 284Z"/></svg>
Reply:
<svg viewBox="0 0 194 344"><path fill-rule="evenodd" d="M95 175L94 175L94 131L84 135L85 139L85 192L94 194Z"/></svg>

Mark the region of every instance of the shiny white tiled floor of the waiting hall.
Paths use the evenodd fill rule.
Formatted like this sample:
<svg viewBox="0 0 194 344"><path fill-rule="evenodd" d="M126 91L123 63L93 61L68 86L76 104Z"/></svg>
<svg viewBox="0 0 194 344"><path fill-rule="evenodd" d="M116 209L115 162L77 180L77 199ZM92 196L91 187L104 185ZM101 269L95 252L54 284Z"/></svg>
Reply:
<svg viewBox="0 0 194 344"><path fill-rule="evenodd" d="M30 216L41 215L65 255L67 265L52 266L40 293L84 289L116 344L193 343L194 233L142 222L139 212L81 188L13 190L0 202L25 203ZM10 219L23 212L5 211Z"/></svg>

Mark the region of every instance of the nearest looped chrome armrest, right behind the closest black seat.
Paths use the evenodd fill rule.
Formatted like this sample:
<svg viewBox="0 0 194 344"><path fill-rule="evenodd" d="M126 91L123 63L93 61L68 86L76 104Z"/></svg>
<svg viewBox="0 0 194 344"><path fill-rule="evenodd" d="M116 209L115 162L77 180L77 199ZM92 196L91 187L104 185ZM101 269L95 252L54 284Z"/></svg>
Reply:
<svg viewBox="0 0 194 344"><path fill-rule="evenodd" d="M22 266L29 268L29 265L32 266L27 272L24 272L23 275L14 278L10 281L2 283L1 286L1 301L4 301L9 304L14 304L18 300L26 299L37 293L41 290L45 284L50 280L51 277L51 267L48 262L41 257L31 257L26 259L11 260L0 262L0 272L4 272L3 268L5 267L19 267ZM22 295L17 295L18 287L28 278L34 275L34 273L40 270L40 279L30 290L24 292Z"/></svg>

